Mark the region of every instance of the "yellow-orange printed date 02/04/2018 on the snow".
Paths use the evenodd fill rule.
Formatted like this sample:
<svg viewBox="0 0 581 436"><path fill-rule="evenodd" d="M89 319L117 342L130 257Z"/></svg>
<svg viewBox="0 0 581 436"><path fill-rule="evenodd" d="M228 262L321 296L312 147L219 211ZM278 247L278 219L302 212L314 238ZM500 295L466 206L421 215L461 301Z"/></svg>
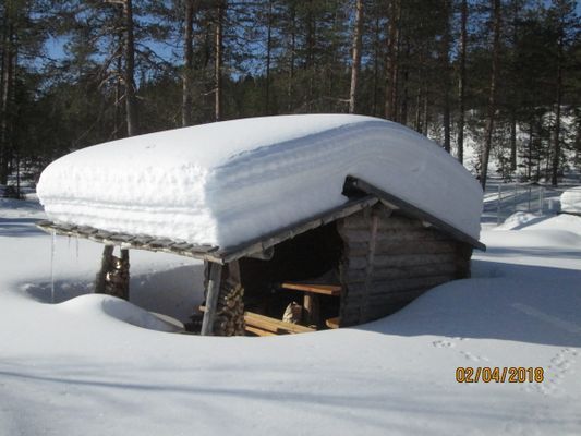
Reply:
<svg viewBox="0 0 581 436"><path fill-rule="evenodd" d="M545 371L542 367L488 367L459 366L456 368L458 383L543 383Z"/></svg>

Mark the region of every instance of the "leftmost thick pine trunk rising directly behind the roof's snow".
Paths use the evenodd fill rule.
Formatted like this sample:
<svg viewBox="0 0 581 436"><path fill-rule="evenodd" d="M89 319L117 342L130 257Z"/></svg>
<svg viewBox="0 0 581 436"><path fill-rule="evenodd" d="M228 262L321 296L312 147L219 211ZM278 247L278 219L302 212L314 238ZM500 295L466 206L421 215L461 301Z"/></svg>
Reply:
<svg viewBox="0 0 581 436"><path fill-rule="evenodd" d="M123 14L125 17L125 117L128 124L128 136L137 134L137 111L135 100L135 43L133 38L133 4L132 0L123 3Z"/></svg>

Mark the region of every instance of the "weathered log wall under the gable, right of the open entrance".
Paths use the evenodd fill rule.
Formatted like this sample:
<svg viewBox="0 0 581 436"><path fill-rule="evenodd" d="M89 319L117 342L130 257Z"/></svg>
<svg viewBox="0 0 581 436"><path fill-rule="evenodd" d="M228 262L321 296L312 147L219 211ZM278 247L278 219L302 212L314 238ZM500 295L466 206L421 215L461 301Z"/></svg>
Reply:
<svg viewBox="0 0 581 436"><path fill-rule="evenodd" d="M344 244L340 326L389 315L435 286L470 276L469 244L380 204L337 227Z"/></svg>

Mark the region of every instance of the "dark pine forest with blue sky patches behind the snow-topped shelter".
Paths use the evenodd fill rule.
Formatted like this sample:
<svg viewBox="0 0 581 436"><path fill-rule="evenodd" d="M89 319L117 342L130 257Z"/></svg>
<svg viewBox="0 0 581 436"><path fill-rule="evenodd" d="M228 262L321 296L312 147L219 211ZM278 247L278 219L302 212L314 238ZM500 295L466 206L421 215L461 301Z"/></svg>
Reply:
<svg viewBox="0 0 581 436"><path fill-rule="evenodd" d="M135 134L351 112L429 135L483 185L492 157L506 179L556 185L581 166L576 8L574 0L3 0L0 184Z"/></svg>

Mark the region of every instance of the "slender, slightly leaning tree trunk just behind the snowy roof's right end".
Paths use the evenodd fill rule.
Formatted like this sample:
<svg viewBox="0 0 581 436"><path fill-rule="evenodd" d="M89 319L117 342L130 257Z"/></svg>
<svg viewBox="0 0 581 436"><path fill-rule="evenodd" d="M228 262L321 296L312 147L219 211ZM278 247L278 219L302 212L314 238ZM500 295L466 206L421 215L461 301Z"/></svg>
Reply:
<svg viewBox="0 0 581 436"><path fill-rule="evenodd" d="M486 135L484 149L482 152L481 185L486 189L486 177L488 173L488 158L493 144L494 114L496 111L496 86L498 80L498 55L500 50L500 0L492 0L493 5L493 65L491 73L491 88L488 94L488 119L486 121Z"/></svg>

